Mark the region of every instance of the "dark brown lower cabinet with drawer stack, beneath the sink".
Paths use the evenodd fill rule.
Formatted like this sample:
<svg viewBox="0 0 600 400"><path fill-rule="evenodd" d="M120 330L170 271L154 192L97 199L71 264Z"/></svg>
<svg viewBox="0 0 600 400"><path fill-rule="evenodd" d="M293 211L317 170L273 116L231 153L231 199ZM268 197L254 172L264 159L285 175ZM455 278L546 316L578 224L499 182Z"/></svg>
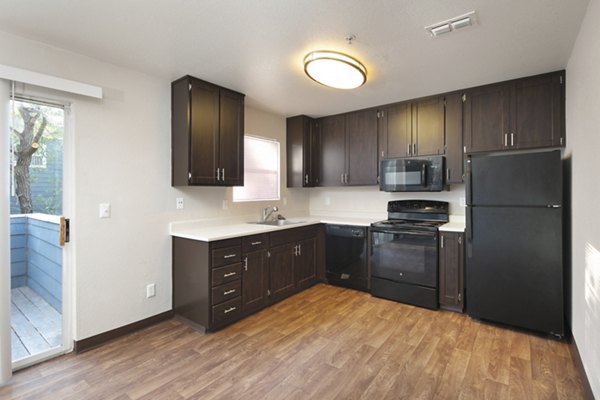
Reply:
<svg viewBox="0 0 600 400"><path fill-rule="evenodd" d="M173 237L175 315L216 330L314 285L324 275L322 231L310 225L215 242Z"/></svg>

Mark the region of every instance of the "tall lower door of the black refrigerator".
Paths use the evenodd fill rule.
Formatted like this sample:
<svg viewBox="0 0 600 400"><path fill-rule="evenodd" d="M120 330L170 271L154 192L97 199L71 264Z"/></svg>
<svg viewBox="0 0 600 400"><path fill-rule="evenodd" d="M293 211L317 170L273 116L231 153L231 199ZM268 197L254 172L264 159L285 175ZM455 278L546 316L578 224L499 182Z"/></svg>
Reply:
<svg viewBox="0 0 600 400"><path fill-rule="evenodd" d="M562 210L468 211L467 313L563 335Z"/></svg>

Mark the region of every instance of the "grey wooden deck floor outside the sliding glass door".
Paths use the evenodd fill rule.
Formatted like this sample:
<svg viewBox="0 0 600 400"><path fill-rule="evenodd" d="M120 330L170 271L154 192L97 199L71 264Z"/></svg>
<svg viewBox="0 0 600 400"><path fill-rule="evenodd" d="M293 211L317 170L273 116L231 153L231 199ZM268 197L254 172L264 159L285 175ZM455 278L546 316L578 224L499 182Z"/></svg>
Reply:
<svg viewBox="0 0 600 400"><path fill-rule="evenodd" d="M13 362L60 346L62 316L33 290L12 289L10 311Z"/></svg>

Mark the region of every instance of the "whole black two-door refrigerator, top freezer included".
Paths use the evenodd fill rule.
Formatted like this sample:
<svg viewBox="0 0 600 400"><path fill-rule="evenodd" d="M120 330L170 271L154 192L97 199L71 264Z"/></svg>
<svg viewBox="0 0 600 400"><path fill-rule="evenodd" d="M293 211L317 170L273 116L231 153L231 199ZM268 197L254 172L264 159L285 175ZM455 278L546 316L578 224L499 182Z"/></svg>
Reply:
<svg viewBox="0 0 600 400"><path fill-rule="evenodd" d="M560 150L467 158L466 310L564 336Z"/></svg>

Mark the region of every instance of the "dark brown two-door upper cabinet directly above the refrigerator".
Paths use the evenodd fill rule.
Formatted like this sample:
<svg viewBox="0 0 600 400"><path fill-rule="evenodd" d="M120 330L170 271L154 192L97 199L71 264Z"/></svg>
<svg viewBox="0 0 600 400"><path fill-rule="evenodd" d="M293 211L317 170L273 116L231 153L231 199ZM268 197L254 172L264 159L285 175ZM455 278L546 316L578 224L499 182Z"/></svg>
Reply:
<svg viewBox="0 0 600 400"><path fill-rule="evenodd" d="M564 71L469 89L467 153L565 145Z"/></svg>

